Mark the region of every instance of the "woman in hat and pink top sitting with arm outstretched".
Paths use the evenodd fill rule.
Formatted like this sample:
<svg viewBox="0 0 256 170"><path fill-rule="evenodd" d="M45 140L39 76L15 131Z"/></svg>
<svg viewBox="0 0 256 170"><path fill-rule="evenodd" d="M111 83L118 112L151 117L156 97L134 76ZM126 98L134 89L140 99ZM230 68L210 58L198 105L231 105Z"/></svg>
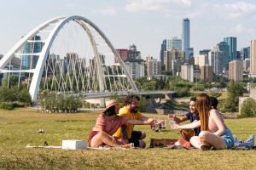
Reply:
<svg viewBox="0 0 256 170"><path fill-rule="evenodd" d="M150 124L148 121L129 120L125 116L118 116L119 104L113 99L106 103L106 110L97 117L96 126L92 128L88 139L88 145L90 147L99 147L102 144L108 144L109 146L131 148L132 144L128 144L128 141L113 137L113 133L122 127L123 125L130 124Z"/></svg>

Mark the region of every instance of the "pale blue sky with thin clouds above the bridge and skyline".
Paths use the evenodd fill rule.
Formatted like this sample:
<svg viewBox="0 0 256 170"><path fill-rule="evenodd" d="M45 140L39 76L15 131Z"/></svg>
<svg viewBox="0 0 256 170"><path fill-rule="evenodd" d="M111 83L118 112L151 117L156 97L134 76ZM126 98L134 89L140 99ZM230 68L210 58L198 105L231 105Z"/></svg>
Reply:
<svg viewBox="0 0 256 170"><path fill-rule="evenodd" d="M44 21L70 15L95 23L114 48L134 43L143 58L160 59L161 42L181 38L187 17L195 55L224 37L237 37L238 50L256 39L255 0L0 0L0 5L0 54Z"/></svg>

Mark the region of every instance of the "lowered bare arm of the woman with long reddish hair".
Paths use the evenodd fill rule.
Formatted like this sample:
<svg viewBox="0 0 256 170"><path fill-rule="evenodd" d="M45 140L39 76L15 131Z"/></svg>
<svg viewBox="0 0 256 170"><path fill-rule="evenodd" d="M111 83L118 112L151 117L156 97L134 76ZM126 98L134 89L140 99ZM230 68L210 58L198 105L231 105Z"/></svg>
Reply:
<svg viewBox="0 0 256 170"><path fill-rule="evenodd" d="M218 110L211 110L210 111L210 119L212 122L215 122L218 130L214 132L217 136L221 136L225 132L225 125L223 120L221 119L221 116L218 113Z"/></svg>

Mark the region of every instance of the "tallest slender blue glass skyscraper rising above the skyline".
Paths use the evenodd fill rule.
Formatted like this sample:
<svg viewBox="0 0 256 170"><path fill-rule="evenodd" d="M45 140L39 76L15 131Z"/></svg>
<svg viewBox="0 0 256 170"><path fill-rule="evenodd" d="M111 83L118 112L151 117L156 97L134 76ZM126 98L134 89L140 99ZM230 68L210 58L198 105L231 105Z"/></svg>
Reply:
<svg viewBox="0 0 256 170"><path fill-rule="evenodd" d="M189 59L193 56L193 48L190 48L190 21L188 18L183 19L182 26L182 50L185 52L185 59Z"/></svg>

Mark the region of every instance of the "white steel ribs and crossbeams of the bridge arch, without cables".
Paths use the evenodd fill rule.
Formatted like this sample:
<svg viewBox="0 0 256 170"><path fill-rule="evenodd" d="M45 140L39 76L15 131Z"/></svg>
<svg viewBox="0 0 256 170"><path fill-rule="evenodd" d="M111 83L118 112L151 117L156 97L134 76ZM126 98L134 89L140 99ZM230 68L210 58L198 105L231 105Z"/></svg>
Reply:
<svg viewBox="0 0 256 170"><path fill-rule="evenodd" d="M95 62L96 62L96 74L97 74L97 81L98 81L98 89L100 92L108 91L108 88L106 86L106 75L104 71L102 71L102 59L101 59L101 53L98 51L97 48L97 43L95 41L95 38L92 34L92 31L90 28L94 29L96 33L106 42L108 45L108 48L110 48L113 56L115 59L117 59L117 63L119 63L120 68L122 71L125 73L124 75L119 75L119 77L125 77L127 79L127 82L130 84L128 89L127 87L125 90L129 90L132 92L137 93L137 87L133 80L131 79L130 74L128 71L125 69L125 65L123 60L119 57L119 54L117 54L115 48L113 48L112 43L108 40L108 37L104 35L104 33L90 20L87 20L86 18L82 16L68 16L68 17L57 17L51 20L48 20L44 22L43 24L37 26L34 28L32 31L28 32L26 36L22 37L19 42L15 44L13 48L9 50L7 54L3 56L3 59L0 60L0 73L3 74L10 74L10 73L32 73L32 80L29 85L29 93L32 96L32 101L36 101L38 99L38 91L39 91L39 86L41 82L41 78L44 72L44 65L46 64L47 59L49 58L49 48L51 48L53 42L55 41L55 37L58 36L58 33L60 32L61 28L63 26L67 25L71 20L79 24L84 29L84 32L87 34L87 36L90 39L90 45L93 48L94 52L94 57L95 57ZM39 32L42 31L47 31L46 28L52 26L52 29L49 31L48 37L45 38L44 41L41 40L36 40L32 39L33 37L36 37ZM90 26L90 28L89 28ZM43 42L43 48L41 49L40 52L38 53L31 53L31 55L38 55L38 61L37 64L35 65L34 68L29 68L29 69L7 69L9 63L11 62L11 59L13 59L15 56L20 55L21 57L26 54L19 54L19 51L21 51L21 48L24 47L24 45L27 42ZM22 59L21 59L22 60ZM20 64L21 65L21 64ZM105 69L108 70L108 69ZM108 79L110 80L109 77L118 77L118 75L111 75L108 76ZM70 78L69 78L70 79ZM88 79L88 78L87 78ZM90 80L88 80L90 81ZM112 83L112 82L110 82ZM78 86L78 85L77 85ZM110 89L112 91L112 89ZM113 89L113 91L119 91L119 89ZM109 91L108 91L109 92Z"/></svg>

